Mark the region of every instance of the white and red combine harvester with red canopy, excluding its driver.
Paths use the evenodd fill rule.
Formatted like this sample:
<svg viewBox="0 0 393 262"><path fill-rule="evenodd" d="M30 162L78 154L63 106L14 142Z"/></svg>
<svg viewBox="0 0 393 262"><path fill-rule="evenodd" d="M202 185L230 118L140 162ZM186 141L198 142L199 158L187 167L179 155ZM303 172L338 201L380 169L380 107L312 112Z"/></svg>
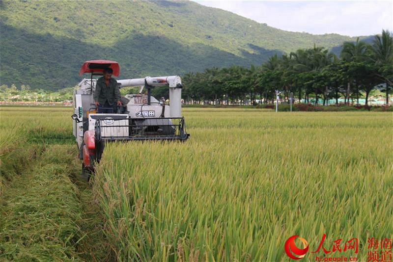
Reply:
<svg viewBox="0 0 393 262"><path fill-rule="evenodd" d="M76 138L79 157L83 160L82 172L86 175L94 171L94 163L99 162L105 144L111 141L132 140L179 140L185 141L184 117L181 116L181 79L178 76L145 77L141 79L117 80L119 88L140 86L140 94L126 95L126 105L118 112L97 113L93 94L97 79L105 68L112 68L112 75L119 75L117 62L109 60L86 61L79 75L90 73L90 79L83 79L74 91L72 115L73 133ZM150 95L151 89L169 86L169 105L164 99L159 101ZM142 95L142 89L147 95Z"/></svg>

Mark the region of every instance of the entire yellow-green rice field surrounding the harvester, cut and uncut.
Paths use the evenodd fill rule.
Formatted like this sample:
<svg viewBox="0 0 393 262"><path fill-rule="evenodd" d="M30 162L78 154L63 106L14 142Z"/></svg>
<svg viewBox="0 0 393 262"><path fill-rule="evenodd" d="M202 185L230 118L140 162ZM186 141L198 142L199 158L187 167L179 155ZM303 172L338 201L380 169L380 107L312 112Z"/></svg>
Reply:
<svg viewBox="0 0 393 262"><path fill-rule="evenodd" d="M369 237L393 237L391 112L183 113L185 143L108 144L86 184L77 181L69 108L1 107L0 260L290 261L284 243L299 235L309 243L303 260L367 261ZM15 205L30 180L44 178ZM55 244L35 216L51 213L35 205L38 195L67 199L50 206L63 210L48 216ZM356 237L359 252L311 253L324 234L327 250Z"/></svg>

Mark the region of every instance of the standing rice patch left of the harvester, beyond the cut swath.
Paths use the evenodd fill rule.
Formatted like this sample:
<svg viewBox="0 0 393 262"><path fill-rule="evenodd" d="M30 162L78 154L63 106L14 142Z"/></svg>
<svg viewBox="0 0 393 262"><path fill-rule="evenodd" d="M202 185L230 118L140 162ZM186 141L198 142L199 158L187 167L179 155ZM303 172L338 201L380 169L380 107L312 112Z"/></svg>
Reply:
<svg viewBox="0 0 393 262"><path fill-rule="evenodd" d="M48 144L74 142L70 108L0 107L0 175L11 180Z"/></svg>

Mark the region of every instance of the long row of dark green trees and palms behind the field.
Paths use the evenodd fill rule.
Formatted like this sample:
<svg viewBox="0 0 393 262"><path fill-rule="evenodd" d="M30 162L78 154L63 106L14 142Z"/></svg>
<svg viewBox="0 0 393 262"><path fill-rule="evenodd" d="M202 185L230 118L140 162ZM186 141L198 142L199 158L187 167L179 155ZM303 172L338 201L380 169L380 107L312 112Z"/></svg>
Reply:
<svg viewBox="0 0 393 262"><path fill-rule="evenodd" d="M328 99L344 97L345 103L380 87L389 92L393 86L393 34L383 30L375 35L372 44L360 41L345 42L337 57L322 47L300 49L290 54L271 56L260 66L250 69L239 66L210 68L202 73L188 73L183 77L183 97L186 101L214 101L215 104L236 104L250 99L273 102L275 90L283 91L289 102L294 94L299 102L309 98L323 105Z"/></svg>

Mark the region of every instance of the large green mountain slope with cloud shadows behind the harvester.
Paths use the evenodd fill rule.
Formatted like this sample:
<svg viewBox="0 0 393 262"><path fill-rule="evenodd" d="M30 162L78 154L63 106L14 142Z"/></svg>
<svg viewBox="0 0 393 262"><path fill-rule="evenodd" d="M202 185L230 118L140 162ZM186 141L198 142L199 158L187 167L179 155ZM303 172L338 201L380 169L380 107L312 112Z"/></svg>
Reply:
<svg viewBox="0 0 393 262"><path fill-rule="evenodd" d="M75 85L85 60L120 76L181 75L259 65L274 53L333 48L356 38L289 32L192 1L0 1L0 84Z"/></svg>

